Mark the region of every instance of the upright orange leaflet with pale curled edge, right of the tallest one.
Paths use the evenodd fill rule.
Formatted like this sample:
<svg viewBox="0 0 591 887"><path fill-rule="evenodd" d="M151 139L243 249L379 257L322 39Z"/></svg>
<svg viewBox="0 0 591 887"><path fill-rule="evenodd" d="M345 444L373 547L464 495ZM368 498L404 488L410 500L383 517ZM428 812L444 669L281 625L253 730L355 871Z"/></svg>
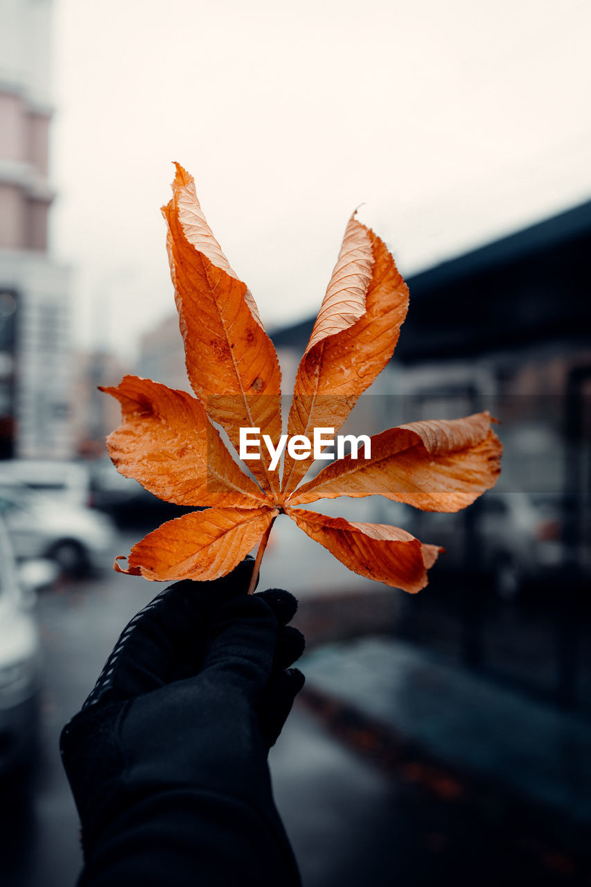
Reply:
<svg viewBox="0 0 591 887"><path fill-rule="evenodd" d="M363 287L365 300L360 295ZM311 437L313 428L338 432L359 396L392 357L407 306L408 288L387 247L352 217L297 371L290 436ZM285 498L312 461L312 457L296 461L286 454Z"/></svg>

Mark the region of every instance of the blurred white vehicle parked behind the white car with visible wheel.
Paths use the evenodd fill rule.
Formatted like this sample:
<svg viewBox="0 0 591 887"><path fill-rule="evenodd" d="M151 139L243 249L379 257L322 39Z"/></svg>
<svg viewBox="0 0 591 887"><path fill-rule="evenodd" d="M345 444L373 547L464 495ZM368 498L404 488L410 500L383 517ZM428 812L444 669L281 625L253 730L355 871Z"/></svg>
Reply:
<svg viewBox="0 0 591 887"><path fill-rule="evenodd" d="M24 483L37 492L75 506L87 506L91 475L85 462L59 459L10 459L0 462L0 483Z"/></svg>

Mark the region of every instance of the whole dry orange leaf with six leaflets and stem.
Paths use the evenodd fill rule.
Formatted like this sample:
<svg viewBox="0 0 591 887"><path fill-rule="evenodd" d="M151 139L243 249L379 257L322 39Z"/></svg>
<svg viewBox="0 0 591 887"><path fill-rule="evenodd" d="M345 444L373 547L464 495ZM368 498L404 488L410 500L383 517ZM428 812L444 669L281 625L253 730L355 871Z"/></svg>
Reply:
<svg viewBox="0 0 591 887"><path fill-rule="evenodd" d="M381 494L428 511L457 511L494 485L501 445L488 412L413 422L371 438L372 458L338 459L298 488L312 457L286 453L283 480L265 448L245 475L212 424L238 449L240 428L280 439L280 369L246 285L232 271L177 165L163 214L187 373L194 397L126 376L102 389L122 404L107 445L117 469L154 495L209 506L162 524L133 546L120 572L157 581L215 579L258 545L251 588L272 523L284 513L361 576L417 592L441 549L405 530L356 523L296 507L319 498ZM382 240L352 216L327 294L300 363L288 435L342 427L359 396L390 361L408 290Z"/></svg>

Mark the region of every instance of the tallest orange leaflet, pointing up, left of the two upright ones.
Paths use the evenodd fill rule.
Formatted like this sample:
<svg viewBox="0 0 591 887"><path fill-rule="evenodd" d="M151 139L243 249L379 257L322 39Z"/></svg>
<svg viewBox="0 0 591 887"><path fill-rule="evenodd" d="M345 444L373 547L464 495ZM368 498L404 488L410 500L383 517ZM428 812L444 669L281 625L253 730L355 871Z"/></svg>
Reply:
<svg viewBox="0 0 591 887"><path fill-rule="evenodd" d="M276 445L281 374L272 341L246 284L232 271L203 216L193 177L178 164L172 189L162 213L193 391L236 448L240 428L260 428ZM265 490L278 490L265 448L261 455L249 467Z"/></svg>

